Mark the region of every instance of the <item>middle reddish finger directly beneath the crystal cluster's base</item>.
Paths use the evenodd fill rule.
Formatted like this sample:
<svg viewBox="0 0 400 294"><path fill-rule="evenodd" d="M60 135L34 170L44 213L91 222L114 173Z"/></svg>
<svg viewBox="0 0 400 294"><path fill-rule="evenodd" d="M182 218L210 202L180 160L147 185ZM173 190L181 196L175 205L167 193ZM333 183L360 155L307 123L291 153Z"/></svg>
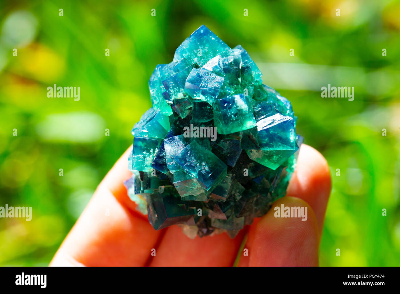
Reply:
<svg viewBox="0 0 400 294"><path fill-rule="evenodd" d="M182 228L171 226L150 266L232 266L244 233L242 230L233 239L226 233L190 239Z"/></svg>

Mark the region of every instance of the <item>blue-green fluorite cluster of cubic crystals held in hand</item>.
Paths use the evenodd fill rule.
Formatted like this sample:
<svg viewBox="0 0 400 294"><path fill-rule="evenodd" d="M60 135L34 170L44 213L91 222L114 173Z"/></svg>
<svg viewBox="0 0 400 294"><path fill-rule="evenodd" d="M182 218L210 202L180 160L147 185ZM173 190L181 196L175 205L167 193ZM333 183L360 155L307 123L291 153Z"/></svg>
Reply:
<svg viewBox="0 0 400 294"><path fill-rule="evenodd" d="M234 237L284 196L302 138L290 102L261 77L242 46L206 26L156 66L125 182L156 230Z"/></svg>

